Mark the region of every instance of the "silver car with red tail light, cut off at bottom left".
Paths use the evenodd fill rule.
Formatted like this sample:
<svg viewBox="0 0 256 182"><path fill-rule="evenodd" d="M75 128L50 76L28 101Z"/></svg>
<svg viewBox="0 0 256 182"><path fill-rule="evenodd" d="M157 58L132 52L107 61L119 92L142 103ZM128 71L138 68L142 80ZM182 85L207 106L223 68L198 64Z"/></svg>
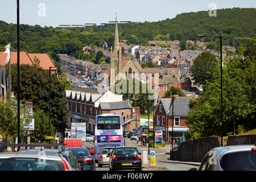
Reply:
<svg viewBox="0 0 256 182"><path fill-rule="evenodd" d="M3 152L0 171L72 171L72 167L62 155Z"/></svg>

